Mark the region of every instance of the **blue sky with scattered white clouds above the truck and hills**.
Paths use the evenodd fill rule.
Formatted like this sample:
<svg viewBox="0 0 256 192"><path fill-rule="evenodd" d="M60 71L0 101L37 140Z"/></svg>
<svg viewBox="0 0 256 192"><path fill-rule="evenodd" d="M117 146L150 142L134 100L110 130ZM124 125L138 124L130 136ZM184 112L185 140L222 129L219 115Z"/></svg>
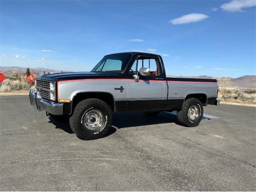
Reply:
<svg viewBox="0 0 256 192"><path fill-rule="evenodd" d="M174 76L256 74L256 0L0 0L0 66L90 71L154 52Z"/></svg>

